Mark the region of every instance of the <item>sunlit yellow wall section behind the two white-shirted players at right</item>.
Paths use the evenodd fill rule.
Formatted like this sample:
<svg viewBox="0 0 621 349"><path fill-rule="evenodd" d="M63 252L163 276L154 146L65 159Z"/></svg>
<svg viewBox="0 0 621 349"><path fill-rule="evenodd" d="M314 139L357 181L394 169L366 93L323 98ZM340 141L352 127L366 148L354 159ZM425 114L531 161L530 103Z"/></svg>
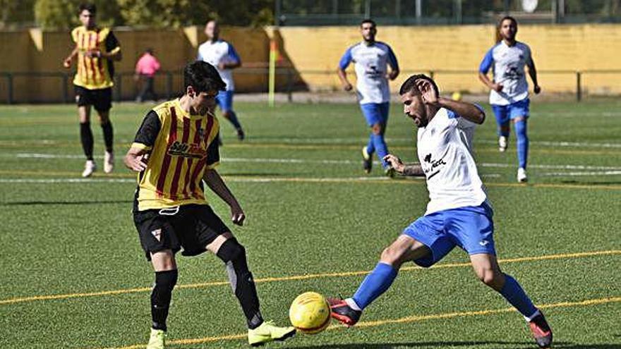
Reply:
<svg viewBox="0 0 621 349"><path fill-rule="evenodd" d="M334 71L345 49L361 39L358 27L284 27L280 34L291 63L311 90L336 89L339 80L335 74L303 72ZM621 25L524 25L517 38L529 44L539 71L621 70ZM443 90L486 92L476 70L495 43L493 26L378 27L377 39L390 44L402 71L471 71L436 73L435 79ZM392 90L405 78L392 82ZM539 80L548 92L573 92L576 87L575 74L540 73ZM621 73L585 74L583 87L621 93Z"/></svg>

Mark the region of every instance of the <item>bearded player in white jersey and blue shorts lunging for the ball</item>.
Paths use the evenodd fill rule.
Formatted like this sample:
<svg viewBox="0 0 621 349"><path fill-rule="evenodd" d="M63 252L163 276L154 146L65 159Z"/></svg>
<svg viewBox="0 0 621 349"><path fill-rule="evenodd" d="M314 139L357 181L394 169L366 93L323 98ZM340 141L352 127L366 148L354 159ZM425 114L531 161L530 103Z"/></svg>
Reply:
<svg viewBox="0 0 621 349"><path fill-rule="evenodd" d="M438 87L426 75L412 75L399 94L405 114L418 127L420 164L405 165L392 154L385 160L404 176L426 177L427 212L386 247L351 298L328 299L332 317L353 326L362 310L390 288L402 264L413 261L431 267L459 246L468 252L476 276L510 302L529 322L537 345L548 348L552 331L543 314L519 283L498 267L493 211L472 156L472 136L485 120L483 109L439 97Z"/></svg>

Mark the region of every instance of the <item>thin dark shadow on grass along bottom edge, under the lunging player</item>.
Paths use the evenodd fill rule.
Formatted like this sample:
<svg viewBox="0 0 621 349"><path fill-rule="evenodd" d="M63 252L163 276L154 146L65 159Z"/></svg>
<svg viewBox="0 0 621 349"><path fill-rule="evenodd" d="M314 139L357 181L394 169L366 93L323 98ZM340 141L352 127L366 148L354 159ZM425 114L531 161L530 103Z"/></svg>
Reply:
<svg viewBox="0 0 621 349"><path fill-rule="evenodd" d="M350 343L350 344L318 344L296 349L397 349L397 348L445 348L445 347L478 347L498 348L493 345L501 345L500 348L529 349L536 348L535 343L529 342L503 342L503 341L463 341L463 342L411 342L411 343ZM555 342L553 348L558 349L621 349L621 344L576 344L569 342Z"/></svg>

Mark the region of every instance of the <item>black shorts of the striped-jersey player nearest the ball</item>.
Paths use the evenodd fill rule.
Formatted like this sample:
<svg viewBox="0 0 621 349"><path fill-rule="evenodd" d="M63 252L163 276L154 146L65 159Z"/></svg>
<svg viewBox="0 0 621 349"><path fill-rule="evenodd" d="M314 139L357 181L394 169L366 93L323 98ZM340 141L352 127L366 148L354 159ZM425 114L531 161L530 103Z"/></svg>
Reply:
<svg viewBox="0 0 621 349"><path fill-rule="evenodd" d="M181 205L179 211L172 214L175 210L134 212L133 221L147 260L151 260L152 253L163 250L176 253L181 247L181 255L200 255L218 235L230 231L206 204Z"/></svg>

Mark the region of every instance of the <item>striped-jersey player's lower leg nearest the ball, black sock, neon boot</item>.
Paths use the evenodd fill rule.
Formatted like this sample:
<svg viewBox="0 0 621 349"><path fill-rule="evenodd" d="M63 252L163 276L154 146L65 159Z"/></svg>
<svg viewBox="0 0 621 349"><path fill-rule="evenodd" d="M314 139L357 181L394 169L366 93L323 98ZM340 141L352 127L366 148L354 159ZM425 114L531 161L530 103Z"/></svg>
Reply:
<svg viewBox="0 0 621 349"><path fill-rule="evenodd" d="M239 300L248 324L248 343L253 346L271 341L284 341L294 336L294 327L279 327L272 322L263 321L259 310L259 298L255 282L246 261L246 249L236 240L229 238L216 252L227 267L233 293Z"/></svg>

